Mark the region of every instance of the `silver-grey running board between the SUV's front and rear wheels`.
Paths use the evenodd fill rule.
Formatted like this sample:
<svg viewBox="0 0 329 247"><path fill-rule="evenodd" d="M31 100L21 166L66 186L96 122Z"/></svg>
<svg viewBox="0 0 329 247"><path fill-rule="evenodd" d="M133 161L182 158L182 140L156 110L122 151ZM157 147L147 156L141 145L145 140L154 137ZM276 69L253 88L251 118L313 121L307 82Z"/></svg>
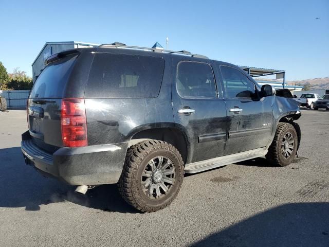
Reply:
<svg viewBox="0 0 329 247"><path fill-rule="evenodd" d="M193 162L185 165L186 173L196 173L200 171L206 171L209 169L226 166L232 163L250 160L251 158L256 158L263 156L267 153L268 147L253 149L250 151L245 151L241 153L230 154L226 156L210 158L205 161Z"/></svg>

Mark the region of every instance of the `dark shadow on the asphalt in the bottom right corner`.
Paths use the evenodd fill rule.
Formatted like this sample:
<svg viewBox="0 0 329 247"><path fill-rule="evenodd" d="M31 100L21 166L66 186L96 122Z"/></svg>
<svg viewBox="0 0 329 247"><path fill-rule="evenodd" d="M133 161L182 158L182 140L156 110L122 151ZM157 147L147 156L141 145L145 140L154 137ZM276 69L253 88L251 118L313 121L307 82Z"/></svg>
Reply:
<svg viewBox="0 0 329 247"><path fill-rule="evenodd" d="M264 211L191 246L329 246L329 203L289 203Z"/></svg>

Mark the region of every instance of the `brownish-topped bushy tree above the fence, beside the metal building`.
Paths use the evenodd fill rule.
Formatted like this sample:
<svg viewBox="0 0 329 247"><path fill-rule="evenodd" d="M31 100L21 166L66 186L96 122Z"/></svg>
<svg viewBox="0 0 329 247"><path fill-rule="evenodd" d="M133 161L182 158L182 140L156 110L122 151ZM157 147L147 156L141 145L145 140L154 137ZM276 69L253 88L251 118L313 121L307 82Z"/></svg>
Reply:
<svg viewBox="0 0 329 247"><path fill-rule="evenodd" d="M30 90L32 88L32 78L26 75L25 71L15 68L12 74L9 74L8 87L13 90Z"/></svg>

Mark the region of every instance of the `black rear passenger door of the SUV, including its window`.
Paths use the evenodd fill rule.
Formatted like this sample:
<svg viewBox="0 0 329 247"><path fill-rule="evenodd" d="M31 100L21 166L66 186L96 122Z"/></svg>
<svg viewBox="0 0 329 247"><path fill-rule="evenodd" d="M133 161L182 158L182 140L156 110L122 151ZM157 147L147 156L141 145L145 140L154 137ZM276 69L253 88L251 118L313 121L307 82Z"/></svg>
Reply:
<svg viewBox="0 0 329 247"><path fill-rule="evenodd" d="M173 58L172 68L174 120L189 138L187 163L223 155L226 108L211 62Z"/></svg>

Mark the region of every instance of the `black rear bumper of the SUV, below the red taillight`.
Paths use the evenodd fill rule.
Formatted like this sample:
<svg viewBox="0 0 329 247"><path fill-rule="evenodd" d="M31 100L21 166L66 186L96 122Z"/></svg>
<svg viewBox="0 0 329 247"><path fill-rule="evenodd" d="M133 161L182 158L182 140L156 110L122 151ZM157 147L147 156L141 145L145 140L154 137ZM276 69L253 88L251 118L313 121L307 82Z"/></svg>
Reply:
<svg viewBox="0 0 329 247"><path fill-rule="evenodd" d="M60 148L51 154L36 146L27 131L22 135L21 148L25 162L47 177L70 185L100 185L118 182L127 143Z"/></svg>

